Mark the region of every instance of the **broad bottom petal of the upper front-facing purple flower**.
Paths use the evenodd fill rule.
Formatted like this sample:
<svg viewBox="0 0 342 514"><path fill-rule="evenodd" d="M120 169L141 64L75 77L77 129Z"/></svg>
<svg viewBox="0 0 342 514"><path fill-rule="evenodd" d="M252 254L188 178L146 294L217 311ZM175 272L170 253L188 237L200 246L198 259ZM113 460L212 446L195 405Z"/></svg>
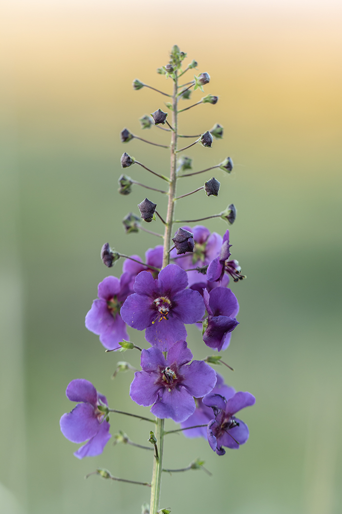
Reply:
<svg viewBox="0 0 342 514"><path fill-rule="evenodd" d="M168 352L176 341L186 338L187 331L184 323L173 316L168 320L156 321L154 325L147 327L145 332L146 341L157 346L162 352Z"/></svg>

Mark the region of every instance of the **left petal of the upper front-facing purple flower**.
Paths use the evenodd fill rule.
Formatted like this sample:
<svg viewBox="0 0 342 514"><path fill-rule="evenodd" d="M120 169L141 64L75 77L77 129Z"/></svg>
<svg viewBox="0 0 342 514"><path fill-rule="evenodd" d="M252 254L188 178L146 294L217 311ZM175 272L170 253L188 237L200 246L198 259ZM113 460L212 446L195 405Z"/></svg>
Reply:
<svg viewBox="0 0 342 514"><path fill-rule="evenodd" d="M151 273L148 271L142 271L136 277L135 284L137 279L143 273L149 275L153 281ZM152 305L153 298L149 298L146 295L143 296L138 295L137 293L133 293L133 295L130 295L125 301L124 305L121 307L120 316L129 326L132 326L137 330L144 330L144 328L152 324L152 321L154 321L156 317L156 313L155 310L153 310Z"/></svg>

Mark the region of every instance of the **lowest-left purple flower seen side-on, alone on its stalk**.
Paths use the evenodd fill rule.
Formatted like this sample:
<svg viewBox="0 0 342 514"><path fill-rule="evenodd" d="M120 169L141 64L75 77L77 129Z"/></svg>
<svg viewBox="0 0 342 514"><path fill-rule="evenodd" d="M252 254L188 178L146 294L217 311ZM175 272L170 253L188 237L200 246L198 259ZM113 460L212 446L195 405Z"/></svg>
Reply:
<svg viewBox="0 0 342 514"><path fill-rule="evenodd" d="M88 443L75 451L77 458L94 457L103 452L111 435L109 423L103 420L104 413L98 406L108 406L106 396L98 393L88 380L78 378L72 380L66 390L67 398L71 401L81 401L69 413L63 414L59 425L62 434L72 443Z"/></svg>

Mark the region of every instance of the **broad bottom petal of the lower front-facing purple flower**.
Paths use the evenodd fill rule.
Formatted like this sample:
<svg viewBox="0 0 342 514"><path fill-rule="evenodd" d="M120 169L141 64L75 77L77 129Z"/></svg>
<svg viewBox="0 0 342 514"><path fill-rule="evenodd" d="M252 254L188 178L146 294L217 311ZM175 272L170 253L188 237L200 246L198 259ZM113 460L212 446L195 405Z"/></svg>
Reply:
<svg viewBox="0 0 342 514"><path fill-rule="evenodd" d="M152 414L158 418L171 418L176 423L182 423L195 411L195 400L188 391L180 386L179 389L165 388L151 408Z"/></svg>

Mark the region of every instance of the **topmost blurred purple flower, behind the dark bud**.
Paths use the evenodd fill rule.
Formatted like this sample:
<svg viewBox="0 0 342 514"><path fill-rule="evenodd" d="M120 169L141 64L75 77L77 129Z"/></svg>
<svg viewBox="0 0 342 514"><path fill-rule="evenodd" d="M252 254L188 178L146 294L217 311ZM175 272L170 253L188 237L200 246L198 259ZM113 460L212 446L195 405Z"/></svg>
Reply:
<svg viewBox="0 0 342 514"><path fill-rule="evenodd" d="M175 262L183 269L192 269L197 267L208 266L208 264L219 255L222 246L222 236L213 232L212 234L203 225L195 227L183 227L193 233L195 248L193 253L188 253L182 257L177 257L176 251L170 253L171 259L176 258ZM198 271L188 271L189 287L198 282L207 282L205 274Z"/></svg>

